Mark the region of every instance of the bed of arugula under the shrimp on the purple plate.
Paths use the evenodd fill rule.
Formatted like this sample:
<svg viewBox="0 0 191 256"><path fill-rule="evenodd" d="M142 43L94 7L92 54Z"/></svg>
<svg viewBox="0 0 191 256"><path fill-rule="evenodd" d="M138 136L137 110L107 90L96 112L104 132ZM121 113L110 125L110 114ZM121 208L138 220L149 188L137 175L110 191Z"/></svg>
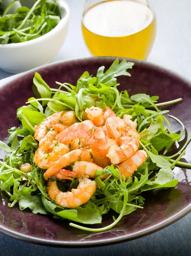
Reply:
<svg viewBox="0 0 191 256"><path fill-rule="evenodd" d="M50 88L35 73L33 79L33 91L36 98L31 97L28 105L17 110L17 117L22 128L13 127L8 130L9 144L0 141L0 148L8 152L3 161L0 161L0 190L10 197L9 207L19 204L20 210L30 208L35 214L51 214L54 218L68 219L81 224L99 224L102 216L109 210L119 214L108 227L89 228L70 223L71 226L87 231L103 231L113 227L124 216L143 208L144 194L148 190L160 190L174 187L178 180L173 179L175 165L190 168L191 165L179 160L185 154L185 147L191 139L191 134L185 145L174 155L170 155L171 146L179 142L185 133L182 122L174 116L182 129L181 133L172 132L170 122L160 106L180 102L175 99L170 102L157 103L158 96L148 96L143 93L129 96L128 91L118 91L117 76L130 76L127 69L133 67L133 63L123 60L115 60L111 67L104 73L104 67L100 67L97 76L91 76L87 71L77 80L76 86L68 83L56 82L59 89ZM83 120L86 108L97 106L103 110L110 107L117 116L123 118L124 114L137 119L137 131L140 133L140 149L144 149L148 155L145 163L140 166L131 177L121 178L115 166L107 166L103 172L97 171L94 178L97 183L96 193L91 199L80 207L63 208L50 201L47 194L47 183L40 169L34 163L34 152L38 148L38 142L34 139L34 126L53 113L73 110L78 121ZM174 157L177 157L174 160ZM20 171L22 163L31 164L31 172ZM102 175L108 174L105 180ZM78 179L57 181L57 185L63 192L77 188Z"/></svg>

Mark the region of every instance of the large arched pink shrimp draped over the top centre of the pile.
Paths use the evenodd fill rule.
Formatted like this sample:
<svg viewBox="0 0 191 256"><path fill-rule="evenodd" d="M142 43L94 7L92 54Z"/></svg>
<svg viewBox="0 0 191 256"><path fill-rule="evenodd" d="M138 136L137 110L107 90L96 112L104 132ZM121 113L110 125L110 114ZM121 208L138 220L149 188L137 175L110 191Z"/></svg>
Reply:
<svg viewBox="0 0 191 256"><path fill-rule="evenodd" d="M88 121L75 123L57 135L57 140L64 144L76 138L86 139L85 144L92 145L100 154L106 155L108 152L108 138L99 127Z"/></svg>

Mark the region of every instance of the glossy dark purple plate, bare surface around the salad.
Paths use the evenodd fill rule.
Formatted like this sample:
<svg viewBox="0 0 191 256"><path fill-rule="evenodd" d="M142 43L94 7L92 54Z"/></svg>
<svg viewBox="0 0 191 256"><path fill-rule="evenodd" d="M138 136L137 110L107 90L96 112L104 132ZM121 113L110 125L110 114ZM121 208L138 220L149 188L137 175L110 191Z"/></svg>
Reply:
<svg viewBox="0 0 191 256"><path fill-rule="evenodd" d="M122 58L119 59L122 61ZM40 73L50 87L57 87L55 81L76 84L85 70L96 75L100 66L104 65L107 69L114 60L115 58L110 57L97 57L48 64L29 71L1 87L0 140L7 142L7 129L19 125L16 111L33 95L32 79L35 71ZM177 116L184 123L189 133L191 83L148 62L128 61L133 61L135 65L130 70L131 77L122 76L117 79L120 82L120 90L127 89L130 95L135 93L158 95L159 102L182 97L182 102L167 109L171 111L171 115ZM180 125L174 119L170 122L174 132L180 131ZM186 137L179 143L180 147ZM190 152L191 145L188 145L184 162L191 162ZM0 157L3 158L2 151ZM174 177L179 180L176 188L163 190L158 195L145 192L143 209L124 216L114 228L101 233L77 230L68 225L69 221L60 221L48 215L35 215L29 210L20 211L17 205L9 208L8 199L0 194L2 197L0 198L0 232L23 241L57 247L103 246L136 239L167 227L191 211L191 170L176 167ZM105 227L111 222L112 215L108 213L104 216L103 223L94 227Z"/></svg>

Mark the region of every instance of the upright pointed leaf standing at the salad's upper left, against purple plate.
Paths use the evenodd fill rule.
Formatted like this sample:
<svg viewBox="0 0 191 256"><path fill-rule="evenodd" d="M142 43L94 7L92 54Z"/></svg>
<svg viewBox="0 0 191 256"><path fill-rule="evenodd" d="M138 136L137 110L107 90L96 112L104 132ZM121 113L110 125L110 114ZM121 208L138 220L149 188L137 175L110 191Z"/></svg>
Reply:
<svg viewBox="0 0 191 256"><path fill-rule="evenodd" d="M37 98L51 98L50 87L37 72L34 74L32 89ZM47 105L47 103L48 101L43 101L43 106Z"/></svg>

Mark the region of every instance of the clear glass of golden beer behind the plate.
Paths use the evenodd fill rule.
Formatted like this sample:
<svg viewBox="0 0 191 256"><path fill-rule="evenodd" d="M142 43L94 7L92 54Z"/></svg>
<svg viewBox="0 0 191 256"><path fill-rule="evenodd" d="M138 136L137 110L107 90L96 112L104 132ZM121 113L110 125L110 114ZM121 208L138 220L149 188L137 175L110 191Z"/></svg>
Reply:
<svg viewBox="0 0 191 256"><path fill-rule="evenodd" d="M82 31L93 56L145 60L156 35L156 17L148 0L86 0Z"/></svg>

